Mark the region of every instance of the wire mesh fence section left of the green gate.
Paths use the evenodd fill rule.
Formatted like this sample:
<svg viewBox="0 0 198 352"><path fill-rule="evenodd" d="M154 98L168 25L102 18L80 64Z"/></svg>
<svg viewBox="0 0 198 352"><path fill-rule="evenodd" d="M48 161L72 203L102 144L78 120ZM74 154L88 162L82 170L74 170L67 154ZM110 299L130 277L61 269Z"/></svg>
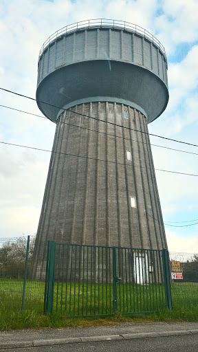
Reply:
<svg viewBox="0 0 198 352"><path fill-rule="evenodd" d="M43 312L45 276L40 281L31 279L33 251L34 236L0 239L1 311L35 309Z"/></svg>

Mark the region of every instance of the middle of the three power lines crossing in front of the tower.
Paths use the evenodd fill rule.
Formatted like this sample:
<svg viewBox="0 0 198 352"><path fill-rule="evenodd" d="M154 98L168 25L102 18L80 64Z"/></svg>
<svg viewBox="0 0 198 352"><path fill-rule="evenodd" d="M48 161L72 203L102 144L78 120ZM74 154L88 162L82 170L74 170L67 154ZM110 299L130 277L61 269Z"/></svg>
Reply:
<svg viewBox="0 0 198 352"><path fill-rule="evenodd" d="M11 110L14 110L14 111L19 111L21 113L28 113L29 115L34 115L38 118L44 118L45 120L48 120L48 118L46 118L45 116L41 116L41 115L36 115L36 113L30 113L28 111L23 111L23 110L19 110L19 109L15 109L13 107L7 107L5 105L2 105L0 104L0 107L5 107L7 109L11 109ZM72 111L73 112L73 111ZM52 121L52 120L50 120ZM96 132L96 133L102 133L104 135L111 135L112 137L117 137L117 138L121 138L122 140L130 140L132 142L136 142L136 143L142 143L142 144L147 144L147 145L151 145L151 146L157 146L158 148L165 148L165 149L169 149L171 151L179 151L180 153L187 153L187 154L192 154L192 155L198 155L198 153L193 153L193 152L190 152L190 151L181 151L181 149L176 149L176 148L170 148L169 146L159 146L158 144L151 144L151 143L146 143L146 142L142 142L142 141L138 141L138 140L131 140L131 138L126 138L126 137L122 137L120 135L112 135L111 133L107 133L107 132L102 132L102 131L96 131L94 129L88 129L87 127L83 127L83 126L77 126L76 124L70 124L69 122L63 122L61 120L58 121L58 123L61 123L61 124L67 124L69 126L74 126L74 127L78 127L79 129L86 129L87 131L93 131L93 132Z"/></svg>

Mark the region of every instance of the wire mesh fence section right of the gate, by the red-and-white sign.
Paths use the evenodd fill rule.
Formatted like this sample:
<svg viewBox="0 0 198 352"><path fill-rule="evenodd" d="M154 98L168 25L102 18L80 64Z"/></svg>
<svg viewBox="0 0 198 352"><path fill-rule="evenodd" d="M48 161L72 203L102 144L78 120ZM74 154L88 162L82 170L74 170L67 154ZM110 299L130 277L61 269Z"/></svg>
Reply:
<svg viewBox="0 0 198 352"><path fill-rule="evenodd" d="M170 252L171 292L174 307L198 306L198 254Z"/></svg>

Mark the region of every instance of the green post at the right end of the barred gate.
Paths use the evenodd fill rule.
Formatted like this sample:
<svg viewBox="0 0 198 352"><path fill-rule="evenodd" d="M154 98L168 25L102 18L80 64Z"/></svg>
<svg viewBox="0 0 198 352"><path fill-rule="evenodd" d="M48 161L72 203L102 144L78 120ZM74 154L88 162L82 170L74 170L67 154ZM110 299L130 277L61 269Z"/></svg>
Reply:
<svg viewBox="0 0 198 352"><path fill-rule="evenodd" d="M162 261L163 261L163 268L164 268L164 289L165 289L165 297L166 297L166 307L168 309L172 309L169 257L168 257L168 250L166 250L165 248L162 250Z"/></svg>

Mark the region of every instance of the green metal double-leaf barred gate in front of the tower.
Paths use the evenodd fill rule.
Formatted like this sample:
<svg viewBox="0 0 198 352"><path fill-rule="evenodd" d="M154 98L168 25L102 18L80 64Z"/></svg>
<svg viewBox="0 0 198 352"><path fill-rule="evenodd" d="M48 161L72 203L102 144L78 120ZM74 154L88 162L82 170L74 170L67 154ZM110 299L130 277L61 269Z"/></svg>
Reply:
<svg viewBox="0 0 198 352"><path fill-rule="evenodd" d="M105 316L171 308L167 250L49 241L44 311Z"/></svg>

